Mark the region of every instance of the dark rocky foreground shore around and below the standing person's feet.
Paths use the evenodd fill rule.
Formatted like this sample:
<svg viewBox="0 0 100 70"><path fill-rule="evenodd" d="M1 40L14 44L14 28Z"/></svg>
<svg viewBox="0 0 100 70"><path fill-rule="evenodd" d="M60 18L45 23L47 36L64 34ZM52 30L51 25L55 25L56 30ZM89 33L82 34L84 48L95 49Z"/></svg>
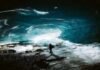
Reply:
<svg viewBox="0 0 100 70"><path fill-rule="evenodd" d="M52 55L48 48L31 53L1 54L0 70L100 70L99 62L87 63L75 55L73 49L57 46Z"/></svg>

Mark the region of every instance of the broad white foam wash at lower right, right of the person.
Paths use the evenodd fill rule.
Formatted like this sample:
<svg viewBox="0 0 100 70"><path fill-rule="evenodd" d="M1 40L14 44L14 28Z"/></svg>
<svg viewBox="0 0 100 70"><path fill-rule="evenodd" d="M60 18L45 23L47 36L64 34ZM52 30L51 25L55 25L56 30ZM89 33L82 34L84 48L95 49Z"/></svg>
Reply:
<svg viewBox="0 0 100 70"><path fill-rule="evenodd" d="M86 63L91 64L100 62L100 48L98 44L77 44L70 41L64 41L63 46L66 50L60 52L70 51L72 53L70 56L77 56L77 59L80 58Z"/></svg>

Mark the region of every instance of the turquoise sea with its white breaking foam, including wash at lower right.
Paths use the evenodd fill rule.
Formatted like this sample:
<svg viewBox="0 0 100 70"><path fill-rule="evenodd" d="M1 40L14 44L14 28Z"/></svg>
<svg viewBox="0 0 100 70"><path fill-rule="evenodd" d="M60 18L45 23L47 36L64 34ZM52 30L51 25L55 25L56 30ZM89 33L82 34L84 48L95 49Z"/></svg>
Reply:
<svg viewBox="0 0 100 70"><path fill-rule="evenodd" d="M69 60L82 59L81 61L86 63L100 62L100 44L95 41L91 44L82 44L82 42L92 41L91 37L95 36L95 31L91 32L93 25L87 20L45 18L43 15L49 12L37 10L35 13L42 14L42 18L25 17L25 15L22 18L22 13L30 13L30 10L24 11L20 12L21 18L17 16L0 21L1 43L31 40L40 45L59 44L60 46L54 49L55 54L66 56Z"/></svg>

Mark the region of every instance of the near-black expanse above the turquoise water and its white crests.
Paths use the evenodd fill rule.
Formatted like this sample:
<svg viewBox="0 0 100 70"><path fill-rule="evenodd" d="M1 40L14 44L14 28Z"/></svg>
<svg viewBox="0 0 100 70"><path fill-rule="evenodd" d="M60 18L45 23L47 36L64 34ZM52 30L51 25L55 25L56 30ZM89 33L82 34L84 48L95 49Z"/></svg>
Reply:
<svg viewBox="0 0 100 70"><path fill-rule="evenodd" d="M55 6L58 6L58 10L64 10L67 16L81 15L98 18L100 15L99 0L0 0L0 11L15 8L35 8L48 11L53 10Z"/></svg>

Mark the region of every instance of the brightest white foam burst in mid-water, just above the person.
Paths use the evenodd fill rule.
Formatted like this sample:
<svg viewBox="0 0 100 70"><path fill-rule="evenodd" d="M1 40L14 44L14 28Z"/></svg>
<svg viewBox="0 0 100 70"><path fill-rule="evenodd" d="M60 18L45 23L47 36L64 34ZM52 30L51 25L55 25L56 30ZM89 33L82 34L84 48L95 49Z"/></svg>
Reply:
<svg viewBox="0 0 100 70"><path fill-rule="evenodd" d="M34 43L40 44L40 43L56 43L61 41L59 39L59 36L61 35L61 31L59 29L55 30L47 30L44 34L39 34L36 36L33 36L32 41Z"/></svg>

